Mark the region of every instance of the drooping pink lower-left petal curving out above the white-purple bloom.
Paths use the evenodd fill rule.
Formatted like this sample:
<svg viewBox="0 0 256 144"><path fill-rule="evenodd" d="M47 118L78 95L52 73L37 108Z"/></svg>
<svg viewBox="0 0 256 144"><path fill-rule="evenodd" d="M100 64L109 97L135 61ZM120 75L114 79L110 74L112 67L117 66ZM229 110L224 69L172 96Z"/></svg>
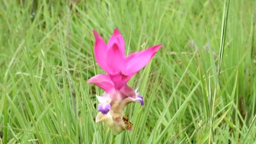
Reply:
<svg viewBox="0 0 256 144"><path fill-rule="evenodd" d="M101 89L103 89L105 92L109 94L112 94L113 92L115 92L114 83L112 82L110 77L107 76L106 74L98 74L94 77L91 77L91 79L89 79L87 83L92 83L94 85L97 85L98 87L100 87Z"/></svg>

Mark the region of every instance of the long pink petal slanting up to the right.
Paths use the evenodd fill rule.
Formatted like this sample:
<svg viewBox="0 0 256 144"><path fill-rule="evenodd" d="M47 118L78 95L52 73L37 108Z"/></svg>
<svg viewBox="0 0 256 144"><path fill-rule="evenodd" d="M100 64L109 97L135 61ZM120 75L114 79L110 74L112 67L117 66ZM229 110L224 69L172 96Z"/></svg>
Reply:
<svg viewBox="0 0 256 144"><path fill-rule="evenodd" d="M162 45L152 46L146 50L142 50L138 52L126 65L126 70L122 70L122 73L125 75L129 75L132 73L136 73L141 68L145 67L150 59L153 58L155 53L161 48Z"/></svg>

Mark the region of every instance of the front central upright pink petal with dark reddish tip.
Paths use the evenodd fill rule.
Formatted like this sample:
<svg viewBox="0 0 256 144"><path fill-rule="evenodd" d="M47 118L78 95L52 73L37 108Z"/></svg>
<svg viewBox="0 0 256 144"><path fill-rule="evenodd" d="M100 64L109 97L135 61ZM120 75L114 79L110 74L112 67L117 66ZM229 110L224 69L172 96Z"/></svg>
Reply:
<svg viewBox="0 0 256 144"><path fill-rule="evenodd" d="M108 74L119 73L125 68L125 57L116 43L113 43L112 47L107 50L107 65L111 71Z"/></svg>

